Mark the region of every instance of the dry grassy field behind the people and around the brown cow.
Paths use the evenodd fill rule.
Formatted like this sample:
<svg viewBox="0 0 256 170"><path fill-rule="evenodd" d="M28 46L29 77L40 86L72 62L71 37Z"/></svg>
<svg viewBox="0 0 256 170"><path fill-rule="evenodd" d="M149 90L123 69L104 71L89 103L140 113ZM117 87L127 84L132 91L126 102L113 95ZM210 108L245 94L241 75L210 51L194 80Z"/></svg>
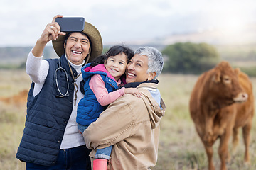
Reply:
<svg viewBox="0 0 256 170"><path fill-rule="evenodd" d="M24 71L0 71L0 96L8 97L29 89L30 79ZM166 103L166 115L161 120L159 159L154 170L207 169L207 159L193 122L188 112L191 89L197 77L191 75L162 74L159 89ZM256 86L256 78L252 78ZM254 88L255 91L256 87ZM256 96L256 92L255 96ZM0 170L23 170L25 164L15 158L21 140L26 116L26 103L23 106L0 102ZM251 165L243 165L244 147L240 134L238 151L233 155L228 169L256 169L256 125L252 128L250 145ZM214 145L216 169L220 166L218 142Z"/></svg>

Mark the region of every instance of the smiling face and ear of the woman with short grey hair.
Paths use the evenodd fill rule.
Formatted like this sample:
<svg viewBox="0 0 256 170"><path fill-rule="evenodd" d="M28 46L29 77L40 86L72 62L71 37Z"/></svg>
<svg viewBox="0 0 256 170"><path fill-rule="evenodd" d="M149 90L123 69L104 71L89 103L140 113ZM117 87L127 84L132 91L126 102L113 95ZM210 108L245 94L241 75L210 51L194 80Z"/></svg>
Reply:
<svg viewBox="0 0 256 170"><path fill-rule="evenodd" d="M146 55L134 55L127 64L126 82L143 82L154 79L155 72L147 73L149 57Z"/></svg>

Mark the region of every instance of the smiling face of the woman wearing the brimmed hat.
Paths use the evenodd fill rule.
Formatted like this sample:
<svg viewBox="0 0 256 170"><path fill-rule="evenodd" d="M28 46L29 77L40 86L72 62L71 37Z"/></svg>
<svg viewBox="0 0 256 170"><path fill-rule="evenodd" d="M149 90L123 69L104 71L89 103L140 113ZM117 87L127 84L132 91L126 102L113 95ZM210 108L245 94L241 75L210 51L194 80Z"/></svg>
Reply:
<svg viewBox="0 0 256 170"><path fill-rule="evenodd" d="M71 33L65 44L65 54L73 64L82 64L90 52L90 42L86 35Z"/></svg>

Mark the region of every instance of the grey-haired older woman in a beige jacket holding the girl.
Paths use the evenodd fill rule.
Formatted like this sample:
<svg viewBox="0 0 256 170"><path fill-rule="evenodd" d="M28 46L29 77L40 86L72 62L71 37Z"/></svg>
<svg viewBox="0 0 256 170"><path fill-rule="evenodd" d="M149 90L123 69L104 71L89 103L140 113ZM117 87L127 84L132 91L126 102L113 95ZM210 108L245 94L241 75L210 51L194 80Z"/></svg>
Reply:
<svg viewBox="0 0 256 170"><path fill-rule="evenodd" d="M165 111L156 80L162 68L161 52L155 48L142 47L135 52L127 65L126 86L137 87L142 98L129 94L118 98L85 130L92 160L95 149L113 145L107 169L142 170L156 165L159 123Z"/></svg>

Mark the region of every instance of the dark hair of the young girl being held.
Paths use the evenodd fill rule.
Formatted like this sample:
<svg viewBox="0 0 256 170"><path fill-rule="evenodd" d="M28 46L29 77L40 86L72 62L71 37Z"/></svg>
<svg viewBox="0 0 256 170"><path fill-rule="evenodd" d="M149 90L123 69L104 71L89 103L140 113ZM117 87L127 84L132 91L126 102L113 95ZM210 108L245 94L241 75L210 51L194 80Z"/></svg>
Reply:
<svg viewBox="0 0 256 170"><path fill-rule="evenodd" d="M131 60L131 58L134 56L134 51L129 47L125 47L124 45L114 45L110 47L110 49L107 50L104 55L100 55L95 60L93 60L91 66L95 67L97 64L104 64L105 60L107 60L108 57L119 55L122 53L124 53L124 55L127 55L127 62L129 62L129 60Z"/></svg>

